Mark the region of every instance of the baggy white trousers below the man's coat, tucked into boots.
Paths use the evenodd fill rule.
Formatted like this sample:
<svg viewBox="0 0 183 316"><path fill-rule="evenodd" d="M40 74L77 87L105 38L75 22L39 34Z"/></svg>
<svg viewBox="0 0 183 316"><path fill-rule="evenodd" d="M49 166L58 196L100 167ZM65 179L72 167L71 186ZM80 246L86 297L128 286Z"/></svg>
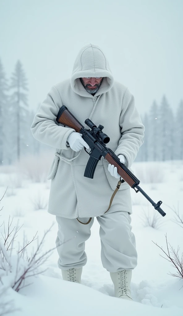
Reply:
<svg viewBox="0 0 183 316"><path fill-rule="evenodd" d="M86 223L89 217L78 219ZM91 235L94 217L87 225L79 223L76 218L70 219L61 216L56 216L56 221L59 228L55 242L59 254L58 267L67 270L84 266L87 262L85 241ZM109 272L134 269L137 265L136 240L135 235L131 232L129 213L124 211L106 213L97 216L97 221L100 224L99 236L103 267ZM72 238L74 236L76 237ZM65 242L68 239L71 240ZM61 243L63 244L60 245Z"/></svg>

